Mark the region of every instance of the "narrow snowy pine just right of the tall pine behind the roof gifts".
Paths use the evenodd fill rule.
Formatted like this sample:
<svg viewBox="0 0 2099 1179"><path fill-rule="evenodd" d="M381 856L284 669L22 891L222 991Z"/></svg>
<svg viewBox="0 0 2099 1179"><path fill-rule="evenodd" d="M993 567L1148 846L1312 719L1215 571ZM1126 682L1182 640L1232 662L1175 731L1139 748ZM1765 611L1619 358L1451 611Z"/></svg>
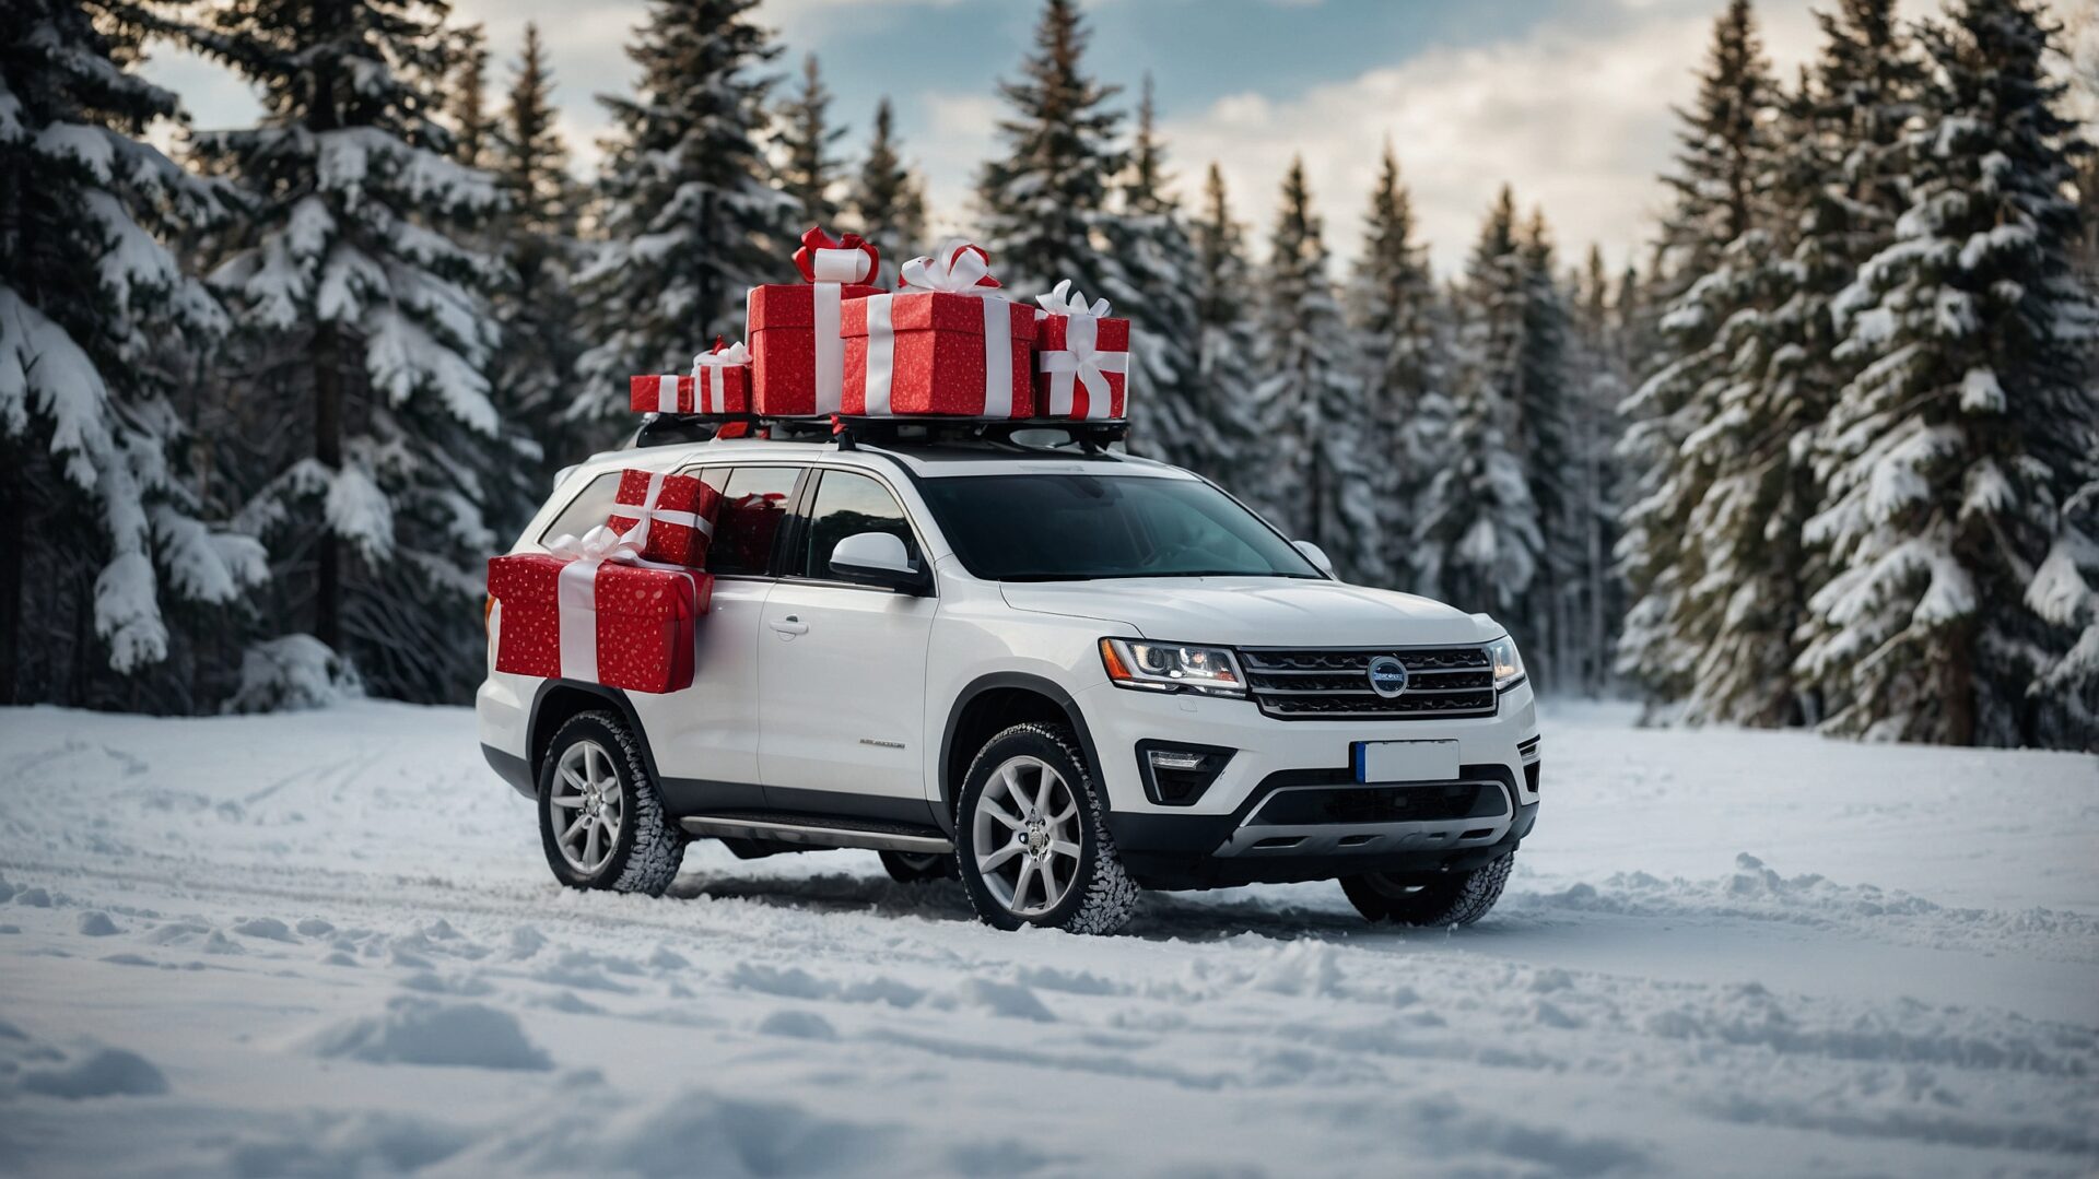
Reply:
<svg viewBox="0 0 2099 1179"><path fill-rule="evenodd" d="M1180 203L1167 195L1173 178L1165 170L1152 109L1152 80L1144 76L1138 101L1138 138L1129 149L1129 170L1115 212L1102 218L1102 239L1119 262L1102 290L1112 313L1129 319L1129 449L1188 466L1217 451L1209 415L1203 413L1199 357L1199 315L1194 292L1194 241L1182 222Z"/></svg>

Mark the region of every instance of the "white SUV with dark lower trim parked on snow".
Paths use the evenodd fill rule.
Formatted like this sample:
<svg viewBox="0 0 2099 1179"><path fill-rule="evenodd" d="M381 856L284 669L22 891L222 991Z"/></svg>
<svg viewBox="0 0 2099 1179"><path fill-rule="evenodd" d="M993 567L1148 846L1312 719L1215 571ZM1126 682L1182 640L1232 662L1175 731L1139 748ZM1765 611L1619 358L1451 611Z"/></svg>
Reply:
<svg viewBox="0 0 2099 1179"><path fill-rule="evenodd" d="M1339 879L1461 925L1539 803L1539 720L1486 615L1335 581L1215 485L1098 447L701 441L563 472L514 552L621 468L724 495L695 682L491 671L489 764L554 875L661 894L693 837L871 848L991 925L1121 927L1138 887Z"/></svg>

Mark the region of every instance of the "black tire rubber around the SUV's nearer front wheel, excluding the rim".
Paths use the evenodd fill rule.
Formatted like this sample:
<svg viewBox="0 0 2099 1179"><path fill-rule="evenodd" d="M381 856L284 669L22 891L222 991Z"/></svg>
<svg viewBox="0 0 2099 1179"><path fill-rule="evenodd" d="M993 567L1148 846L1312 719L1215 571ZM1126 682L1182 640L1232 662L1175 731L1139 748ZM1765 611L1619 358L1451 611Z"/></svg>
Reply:
<svg viewBox="0 0 2099 1179"><path fill-rule="evenodd" d="M1079 803L1079 871L1062 902L1031 917L1008 910L984 885L976 866L972 822L991 776L1008 759L1022 755L1054 768ZM1052 724L1016 724L987 741L976 759L970 762L970 770L961 778L961 797L955 799L955 875L961 877L961 887L970 894L970 906L976 908L976 915L997 929L1043 925L1068 934L1115 934L1129 923L1138 908L1138 885L1115 854L1106 808L1100 803L1100 787L1085 772L1085 757L1079 755L1070 732Z"/></svg>

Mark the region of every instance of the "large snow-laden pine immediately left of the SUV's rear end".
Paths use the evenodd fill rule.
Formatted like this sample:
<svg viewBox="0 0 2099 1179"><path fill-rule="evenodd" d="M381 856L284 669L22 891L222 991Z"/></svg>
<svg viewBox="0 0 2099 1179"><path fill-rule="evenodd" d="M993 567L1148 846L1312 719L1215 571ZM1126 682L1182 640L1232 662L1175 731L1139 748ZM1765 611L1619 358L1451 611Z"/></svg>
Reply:
<svg viewBox="0 0 2099 1179"><path fill-rule="evenodd" d="M451 159L443 8L256 0L195 44L258 88L260 126L197 134L241 191L212 243L239 346L250 495L279 592L264 625L304 629L382 694L458 701L483 661L472 617L495 543L491 487L521 432L489 399L485 239L495 180ZM235 449L235 447L225 447Z"/></svg>

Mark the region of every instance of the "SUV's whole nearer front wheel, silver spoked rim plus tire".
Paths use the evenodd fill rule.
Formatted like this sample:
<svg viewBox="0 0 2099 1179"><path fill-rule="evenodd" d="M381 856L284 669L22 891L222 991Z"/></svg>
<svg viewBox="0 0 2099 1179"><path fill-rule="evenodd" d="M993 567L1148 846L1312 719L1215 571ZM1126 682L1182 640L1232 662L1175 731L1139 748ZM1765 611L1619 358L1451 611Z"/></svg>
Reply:
<svg viewBox="0 0 2099 1179"><path fill-rule="evenodd" d="M999 929L1112 934L1138 904L1070 732L1016 724L978 751L955 812L955 869Z"/></svg>

